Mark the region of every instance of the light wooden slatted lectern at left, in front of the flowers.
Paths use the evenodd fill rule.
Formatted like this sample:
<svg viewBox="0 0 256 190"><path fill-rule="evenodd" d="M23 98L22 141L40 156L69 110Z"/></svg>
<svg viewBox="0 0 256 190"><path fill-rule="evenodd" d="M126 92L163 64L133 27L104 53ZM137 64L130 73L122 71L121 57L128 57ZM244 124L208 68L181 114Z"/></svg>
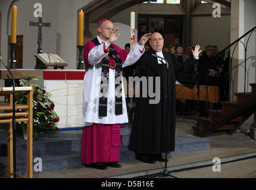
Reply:
<svg viewBox="0 0 256 190"><path fill-rule="evenodd" d="M27 176L17 174L19 178L33 177L33 85L28 87L15 87L15 93L27 92L27 105L15 105L16 122L27 122ZM8 126L8 178L13 178L13 87L0 87L0 96L8 97L8 103L0 103L0 124L9 124ZM24 116L27 116L26 118Z"/></svg>

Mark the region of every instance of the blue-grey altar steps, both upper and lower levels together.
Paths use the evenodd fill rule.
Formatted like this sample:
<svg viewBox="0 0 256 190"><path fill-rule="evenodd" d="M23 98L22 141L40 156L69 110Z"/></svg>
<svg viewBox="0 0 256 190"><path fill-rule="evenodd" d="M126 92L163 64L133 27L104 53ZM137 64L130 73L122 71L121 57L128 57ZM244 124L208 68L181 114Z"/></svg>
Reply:
<svg viewBox="0 0 256 190"><path fill-rule="evenodd" d="M121 127L120 162L135 160L135 153L128 149L131 125ZM0 130L0 164L7 176L7 134ZM3 138L4 137L4 138ZM42 159L42 172L73 169L81 165L82 129L58 131L54 137L48 135L33 142L33 160ZM171 154L199 151L210 148L210 140L177 135L175 151ZM33 163L35 166L37 163ZM0 172L1 173L1 172ZM26 175L26 141L17 137L17 173ZM34 171L35 173L35 171Z"/></svg>

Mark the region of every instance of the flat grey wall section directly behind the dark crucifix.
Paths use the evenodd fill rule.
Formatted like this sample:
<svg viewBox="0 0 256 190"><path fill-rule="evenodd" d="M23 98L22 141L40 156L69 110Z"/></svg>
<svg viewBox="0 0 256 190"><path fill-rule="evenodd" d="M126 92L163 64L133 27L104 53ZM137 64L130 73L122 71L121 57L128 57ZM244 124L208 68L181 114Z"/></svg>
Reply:
<svg viewBox="0 0 256 190"><path fill-rule="evenodd" d="M42 4L42 21L51 23L51 27L42 27L42 49L43 53L56 53L55 33L57 30L57 3L56 1L23 1L23 68L35 68L35 57L38 49L38 27L30 27L29 21L38 22L38 18L33 16L34 4ZM19 29L21 30L20 26ZM64 58L63 58L64 59ZM65 59L64 59L65 60Z"/></svg>

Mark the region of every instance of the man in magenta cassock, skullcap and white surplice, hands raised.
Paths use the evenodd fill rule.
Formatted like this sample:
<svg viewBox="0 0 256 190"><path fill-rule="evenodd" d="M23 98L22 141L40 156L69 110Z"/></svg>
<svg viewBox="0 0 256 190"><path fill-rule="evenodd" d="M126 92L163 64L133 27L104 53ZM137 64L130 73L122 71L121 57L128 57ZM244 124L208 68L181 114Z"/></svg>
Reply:
<svg viewBox="0 0 256 190"><path fill-rule="evenodd" d="M120 36L117 31L111 21L99 21L98 36L85 44L83 55L86 73L81 163L102 170L107 166L121 167L117 163L120 124L128 122L124 91L117 90L120 86L124 89L121 70L141 58L151 37L148 33L138 43L132 42L132 50L127 52L113 43Z"/></svg>

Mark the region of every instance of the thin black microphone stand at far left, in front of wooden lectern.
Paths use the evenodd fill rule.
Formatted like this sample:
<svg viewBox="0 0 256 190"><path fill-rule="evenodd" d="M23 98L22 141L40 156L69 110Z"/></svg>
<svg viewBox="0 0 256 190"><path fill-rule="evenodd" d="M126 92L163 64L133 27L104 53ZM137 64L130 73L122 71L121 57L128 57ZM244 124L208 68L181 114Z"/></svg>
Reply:
<svg viewBox="0 0 256 190"><path fill-rule="evenodd" d="M5 64L4 59L2 59L0 55L0 61L4 64L5 68L8 70L8 72L11 75L11 78L9 75L7 75L8 80L13 83L13 119L12 119L12 129L13 129L13 176L16 178L16 121L15 121L15 81L13 77L13 73L10 71L8 66Z"/></svg>

